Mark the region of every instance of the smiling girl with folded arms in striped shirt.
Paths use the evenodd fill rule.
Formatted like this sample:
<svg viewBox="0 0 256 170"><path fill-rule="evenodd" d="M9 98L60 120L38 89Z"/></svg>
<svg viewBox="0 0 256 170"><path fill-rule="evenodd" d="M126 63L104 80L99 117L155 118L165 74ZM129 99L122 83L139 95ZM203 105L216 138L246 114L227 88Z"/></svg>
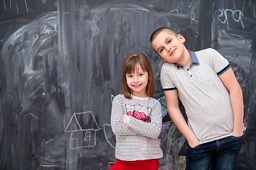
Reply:
<svg viewBox="0 0 256 170"><path fill-rule="evenodd" d="M159 168L161 104L153 98L154 72L142 53L129 55L122 69L124 94L114 97L111 126L116 135L115 162L110 169Z"/></svg>

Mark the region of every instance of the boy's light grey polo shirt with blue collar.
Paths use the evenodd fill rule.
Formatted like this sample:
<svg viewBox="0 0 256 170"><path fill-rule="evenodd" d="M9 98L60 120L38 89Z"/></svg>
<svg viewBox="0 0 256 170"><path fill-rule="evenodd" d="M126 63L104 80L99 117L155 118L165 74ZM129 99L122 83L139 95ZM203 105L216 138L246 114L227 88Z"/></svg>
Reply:
<svg viewBox="0 0 256 170"><path fill-rule="evenodd" d="M178 90L188 116L188 126L200 144L232 135L233 111L228 90L218 76L230 68L216 50L191 52L188 68L164 63L161 86L164 91Z"/></svg>

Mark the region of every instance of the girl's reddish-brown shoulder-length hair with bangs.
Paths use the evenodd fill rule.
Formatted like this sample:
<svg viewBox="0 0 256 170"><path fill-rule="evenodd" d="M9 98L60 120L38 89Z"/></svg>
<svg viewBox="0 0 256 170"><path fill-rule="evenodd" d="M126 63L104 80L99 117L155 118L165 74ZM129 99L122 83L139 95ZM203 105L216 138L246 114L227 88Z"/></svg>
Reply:
<svg viewBox="0 0 256 170"><path fill-rule="evenodd" d="M124 60L123 68L122 68L122 86L124 90L125 98L132 98L132 90L127 86L126 74L131 74L135 72L137 69L137 65L140 65L144 72L149 74L149 82L146 86L146 94L149 97L153 97L155 90L155 80L154 80L154 72L149 62L148 57L143 53L137 52L129 55L126 60Z"/></svg>

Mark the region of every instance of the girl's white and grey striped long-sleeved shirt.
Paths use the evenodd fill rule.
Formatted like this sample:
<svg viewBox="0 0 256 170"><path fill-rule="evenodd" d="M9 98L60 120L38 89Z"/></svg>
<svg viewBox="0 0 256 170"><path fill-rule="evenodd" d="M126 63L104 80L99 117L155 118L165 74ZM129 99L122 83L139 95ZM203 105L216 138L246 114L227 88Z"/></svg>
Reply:
<svg viewBox="0 0 256 170"><path fill-rule="evenodd" d="M136 112L149 115L149 122L131 117L128 125L122 115ZM125 98L123 94L114 97L111 112L111 126L116 135L115 156L123 161L159 159L163 157L160 148L161 104L155 98Z"/></svg>

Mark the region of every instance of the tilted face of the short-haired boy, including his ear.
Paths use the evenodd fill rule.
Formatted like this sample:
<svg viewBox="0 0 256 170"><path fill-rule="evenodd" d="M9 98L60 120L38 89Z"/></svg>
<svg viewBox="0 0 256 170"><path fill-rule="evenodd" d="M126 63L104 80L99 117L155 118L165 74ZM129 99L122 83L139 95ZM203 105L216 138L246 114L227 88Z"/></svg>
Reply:
<svg viewBox="0 0 256 170"><path fill-rule="evenodd" d="M153 49L164 62L178 63L185 50L185 38L181 34L176 35L171 30L162 30L151 42Z"/></svg>

